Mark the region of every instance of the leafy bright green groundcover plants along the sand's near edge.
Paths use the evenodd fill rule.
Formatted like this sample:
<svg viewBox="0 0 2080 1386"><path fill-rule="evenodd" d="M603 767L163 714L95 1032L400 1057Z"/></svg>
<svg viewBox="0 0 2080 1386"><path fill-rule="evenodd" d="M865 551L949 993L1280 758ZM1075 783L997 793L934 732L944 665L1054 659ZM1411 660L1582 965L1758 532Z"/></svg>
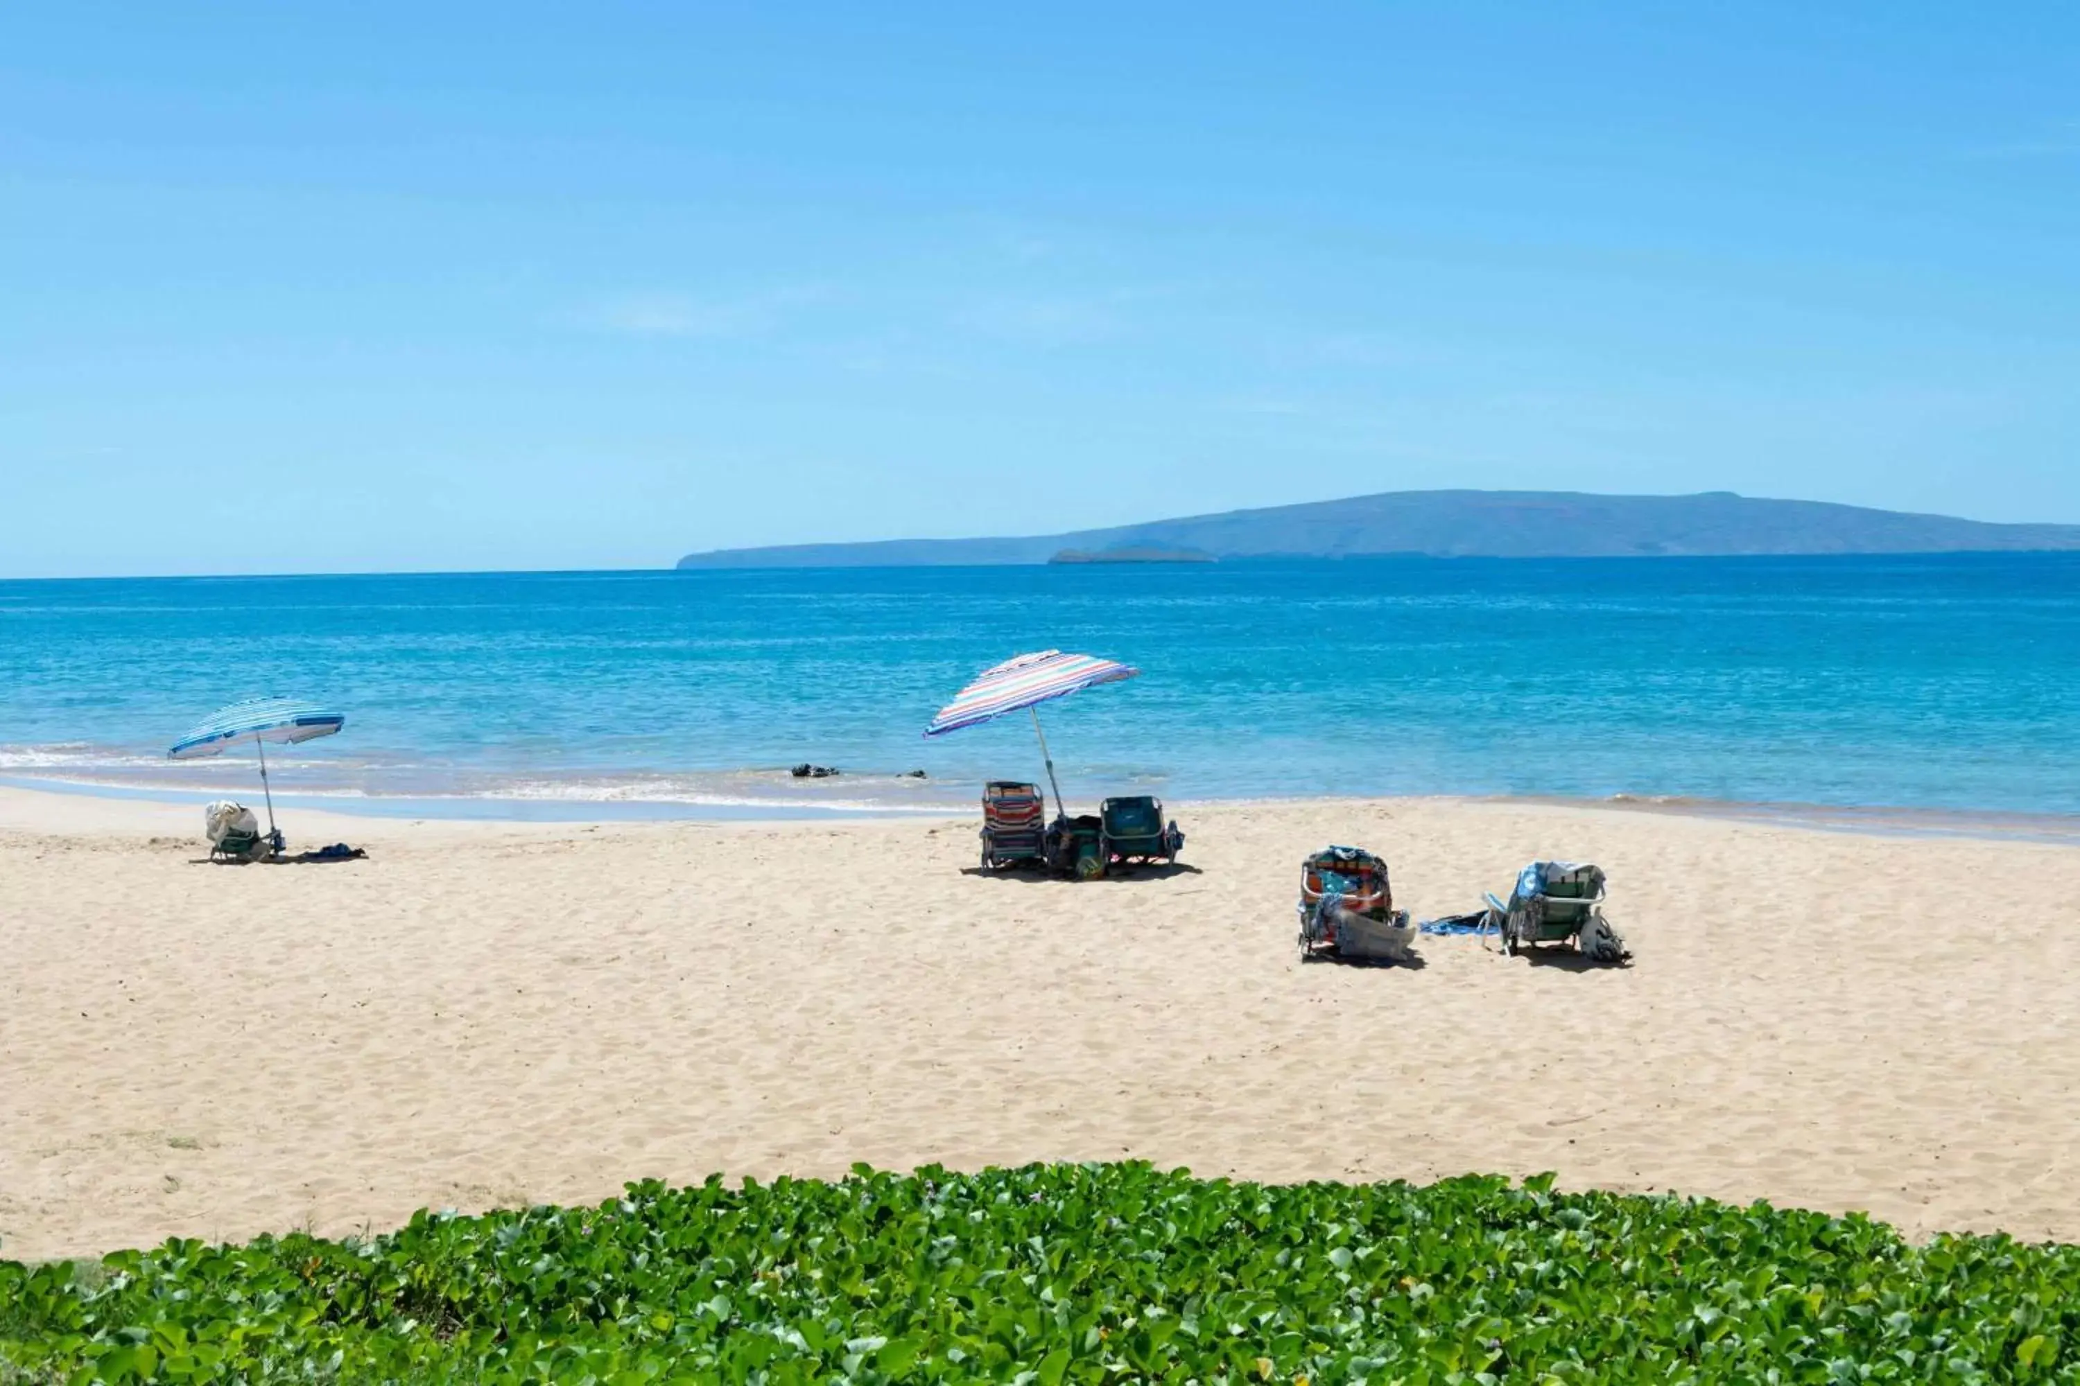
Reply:
<svg viewBox="0 0 2080 1386"><path fill-rule="evenodd" d="M1468 1176L630 1184L0 1261L0 1382L2080 1382L2080 1247Z"/></svg>

